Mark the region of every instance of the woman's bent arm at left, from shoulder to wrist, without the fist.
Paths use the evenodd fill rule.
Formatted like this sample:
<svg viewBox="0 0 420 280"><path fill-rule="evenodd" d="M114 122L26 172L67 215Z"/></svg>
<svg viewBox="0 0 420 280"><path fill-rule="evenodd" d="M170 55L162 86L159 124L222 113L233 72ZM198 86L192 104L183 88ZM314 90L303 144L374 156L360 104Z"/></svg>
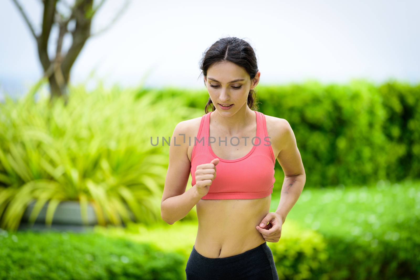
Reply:
<svg viewBox="0 0 420 280"><path fill-rule="evenodd" d="M189 135L187 122L176 125L169 146L169 165L160 203L160 216L170 225L184 218L202 197L197 193L196 185L185 191L191 169L187 156L188 141L184 143Z"/></svg>

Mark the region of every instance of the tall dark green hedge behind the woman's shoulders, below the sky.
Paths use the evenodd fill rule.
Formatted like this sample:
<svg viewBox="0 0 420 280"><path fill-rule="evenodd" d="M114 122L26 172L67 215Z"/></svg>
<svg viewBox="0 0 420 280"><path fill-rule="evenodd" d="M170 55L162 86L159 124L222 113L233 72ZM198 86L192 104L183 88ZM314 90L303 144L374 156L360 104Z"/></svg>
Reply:
<svg viewBox="0 0 420 280"><path fill-rule="evenodd" d="M158 95L163 96L168 89ZM169 89L202 108L208 93ZM286 119L295 133L306 185L370 184L420 178L420 84L308 80L258 85L259 111ZM283 175L276 164L276 173Z"/></svg>

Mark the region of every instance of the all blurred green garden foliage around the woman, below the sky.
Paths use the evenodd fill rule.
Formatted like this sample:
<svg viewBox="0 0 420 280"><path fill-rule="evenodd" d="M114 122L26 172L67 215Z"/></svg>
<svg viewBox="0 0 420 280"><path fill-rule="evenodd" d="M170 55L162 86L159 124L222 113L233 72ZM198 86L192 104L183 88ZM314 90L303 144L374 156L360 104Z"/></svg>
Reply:
<svg viewBox="0 0 420 280"><path fill-rule="evenodd" d="M0 277L185 277L197 216L194 207L171 226L160 218L162 137L205 113L207 91L81 84L65 104L35 98L41 84L0 103ZM307 174L281 240L268 243L281 279L419 279L420 84L308 80L259 85L257 98L259 111L291 124ZM283 182L278 163L275 176ZM47 205L51 225L68 200L85 220L91 203L100 226L16 231L29 203L30 222Z"/></svg>

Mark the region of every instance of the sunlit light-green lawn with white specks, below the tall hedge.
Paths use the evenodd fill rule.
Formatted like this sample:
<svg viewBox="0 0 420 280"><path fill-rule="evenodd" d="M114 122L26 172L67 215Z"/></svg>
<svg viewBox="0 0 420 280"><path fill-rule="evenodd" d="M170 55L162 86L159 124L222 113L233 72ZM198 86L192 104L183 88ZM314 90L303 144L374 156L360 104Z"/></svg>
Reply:
<svg viewBox="0 0 420 280"><path fill-rule="evenodd" d="M278 206L278 192L273 195L270 211ZM290 220L327 236L398 241L402 234L415 233L404 229L419 228L420 181L304 189L283 226L287 227Z"/></svg>

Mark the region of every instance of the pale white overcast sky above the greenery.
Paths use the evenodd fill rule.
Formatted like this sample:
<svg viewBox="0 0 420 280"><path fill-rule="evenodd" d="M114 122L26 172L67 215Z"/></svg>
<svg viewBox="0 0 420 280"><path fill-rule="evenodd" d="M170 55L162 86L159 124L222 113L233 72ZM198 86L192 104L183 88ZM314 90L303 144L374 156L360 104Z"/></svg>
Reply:
<svg viewBox="0 0 420 280"><path fill-rule="evenodd" d="M41 1L19 2L39 32ZM93 32L105 26L122 3L108 0L93 20ZM418 0L132 0L110 30L87 41L71 81L85 80L97 67L97 76L109 85L138 85L151 70L147 86L204 88L198 79L202 52L219 38L236 36L255 48L261 84L309 78L325 83L352 78L418 83L419 11ZM54 30L51 51L56 37ZM42 68L34 38L12 0L0 1L0 38L0 88L20 91Z"/></svg>

